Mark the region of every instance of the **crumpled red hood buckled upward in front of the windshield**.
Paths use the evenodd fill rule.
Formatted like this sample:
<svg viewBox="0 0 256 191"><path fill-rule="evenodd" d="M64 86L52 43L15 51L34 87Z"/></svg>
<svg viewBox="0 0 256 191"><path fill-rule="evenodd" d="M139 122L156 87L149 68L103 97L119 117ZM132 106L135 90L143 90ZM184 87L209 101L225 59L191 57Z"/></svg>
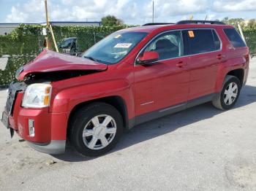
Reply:
<svg viewBox="0 0 256 191"><path fill-rule="evenodd" d="M27 74L50 72L50 71L72 71L72 70L96 70L103 71L108 66L103 63L90 61L72 55L64 55L51 50L43 50L34 61L27 63L18 70L17 79L23 80Z"/></svg>

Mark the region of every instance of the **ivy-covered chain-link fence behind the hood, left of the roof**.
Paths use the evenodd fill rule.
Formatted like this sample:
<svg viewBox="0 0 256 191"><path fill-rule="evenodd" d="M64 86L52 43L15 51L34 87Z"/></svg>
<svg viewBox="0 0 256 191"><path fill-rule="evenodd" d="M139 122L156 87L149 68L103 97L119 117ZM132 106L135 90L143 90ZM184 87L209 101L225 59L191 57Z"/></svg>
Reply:
<svg viewBox="0 0 256 191"><path fill-rule="evenodd" d="M72 55L79 55L105 36L127 27L53 26L53 31L60 52L69 53L72 49L75 49ZM47 31L47 36L50 49L54 50L49 31ZM70 45L71 39L75 44ZM0 88L15 80L15 71L24 63L33 60L44 45L45 36L42 35L42 26L20 26L11 34L0 36ZM4 61L1 61L3 55ZM7 64L4 63L6 61Z"/></svg>

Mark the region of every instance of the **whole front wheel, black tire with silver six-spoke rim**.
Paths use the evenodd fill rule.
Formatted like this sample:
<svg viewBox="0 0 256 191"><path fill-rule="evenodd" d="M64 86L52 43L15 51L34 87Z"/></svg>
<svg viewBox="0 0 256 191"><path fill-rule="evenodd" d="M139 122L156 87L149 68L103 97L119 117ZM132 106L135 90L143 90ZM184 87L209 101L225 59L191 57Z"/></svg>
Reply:
<svg viewBox="0 0 256 191"><path fill-rule="evenodd" d="M75 112L69 124L68 136L72 146L82 155L97 157L116 146L123 129L118 110L110 104L99 102Z"/></svg>

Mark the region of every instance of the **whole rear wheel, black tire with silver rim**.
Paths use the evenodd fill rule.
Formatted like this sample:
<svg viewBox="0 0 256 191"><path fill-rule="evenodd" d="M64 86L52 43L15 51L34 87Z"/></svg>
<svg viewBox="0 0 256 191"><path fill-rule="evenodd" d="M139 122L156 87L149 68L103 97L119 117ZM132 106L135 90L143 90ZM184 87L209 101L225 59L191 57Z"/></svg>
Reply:
<svg viewBox="0 0 256 191"><path fill-rule="evenodd" d="M229 87L231 87L232 89L230 90ZM227 77L225 78L225 82L223 83L222 92L219 93L219 95L217 95L216 98L214 98L214 100L212 101L212 104L217 109L222 109L222 110L231 109L236 104L236 101L238 100L240 90L241 90L240 80L237 77L227 75ZM231 96L231 99L230 99L230 96Z"/></svg>

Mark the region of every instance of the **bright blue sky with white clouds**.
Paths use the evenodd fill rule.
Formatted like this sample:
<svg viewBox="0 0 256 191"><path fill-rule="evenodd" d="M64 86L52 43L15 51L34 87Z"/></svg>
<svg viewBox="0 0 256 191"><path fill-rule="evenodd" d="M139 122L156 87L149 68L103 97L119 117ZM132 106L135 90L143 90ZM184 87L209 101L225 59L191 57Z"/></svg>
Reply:
<svg viewBox="0 0 256 191"><path fill-rule="evenodd" d="M131 25L152 21L152 0L48 0L52 21L100 21L115 15ZM256 0L154 0L155 22L256 18ZM0 23L45 22L44 0L0 0Z"/></svg>

